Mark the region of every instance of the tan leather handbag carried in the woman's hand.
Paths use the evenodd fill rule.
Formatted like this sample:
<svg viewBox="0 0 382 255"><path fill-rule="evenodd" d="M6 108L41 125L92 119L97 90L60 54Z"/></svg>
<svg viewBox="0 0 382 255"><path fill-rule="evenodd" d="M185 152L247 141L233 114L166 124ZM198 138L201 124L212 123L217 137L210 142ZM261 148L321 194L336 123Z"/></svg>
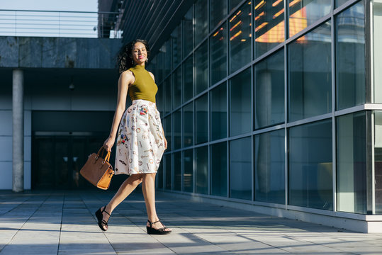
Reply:
<svg viewBox="0 0 382 255"><path fill-rule="evenodd" d="M108 162L110 152L106 154L105 158L102 157L104 150L105 148L101 147L97 154L91 154L79 173L97 188L106 190L110 186L114 171L113 166Z"/></svg>

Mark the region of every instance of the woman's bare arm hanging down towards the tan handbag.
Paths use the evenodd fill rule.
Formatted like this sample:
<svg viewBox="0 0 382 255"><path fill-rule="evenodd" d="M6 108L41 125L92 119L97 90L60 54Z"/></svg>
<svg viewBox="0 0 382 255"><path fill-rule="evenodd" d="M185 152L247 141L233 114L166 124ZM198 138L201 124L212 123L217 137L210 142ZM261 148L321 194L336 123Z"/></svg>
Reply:
<svg viewBox="0 0 382 255"><path fill-rule="evenodd" d="M118 79L118 101L116 113L114 113L113 124L111 125L110 135L108 139L103 143L103 147L105 147L108 151L111 151L111 148L114 145L116 140L116 135L118 132L118 126L120 123L120 119L122 118L123 113L126 108L126 97L128 96L128 86L129 84L133 84L134 76L130 71L125 71L120 74Z"/></svg>

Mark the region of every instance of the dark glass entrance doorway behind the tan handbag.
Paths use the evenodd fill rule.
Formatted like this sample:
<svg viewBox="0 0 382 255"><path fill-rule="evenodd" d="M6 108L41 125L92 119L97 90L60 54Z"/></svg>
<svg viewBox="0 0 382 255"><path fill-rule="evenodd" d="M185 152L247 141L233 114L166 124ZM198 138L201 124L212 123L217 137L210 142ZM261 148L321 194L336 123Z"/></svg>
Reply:
<svg viewBox="0 0 382 255"><path fill-rule="evenodd" d="M68 134L68 133L67 133ZM33 136L32 188L92 188L80 174L89 154L98 152L105 135L47 133ZM110 160L113 162L113 159Z"/></svg>

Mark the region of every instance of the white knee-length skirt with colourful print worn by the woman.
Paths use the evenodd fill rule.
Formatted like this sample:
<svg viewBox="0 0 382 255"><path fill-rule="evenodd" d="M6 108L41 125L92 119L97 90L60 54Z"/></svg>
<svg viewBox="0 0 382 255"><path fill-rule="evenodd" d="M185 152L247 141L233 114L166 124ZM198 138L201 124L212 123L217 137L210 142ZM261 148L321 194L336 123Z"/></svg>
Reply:
<svg viewBox="0 0 382 255"><path fill-rule="evenodd" d="M162 123L155 103L134 100L120 121L115 173L156 173L163 152Z"/></svg>

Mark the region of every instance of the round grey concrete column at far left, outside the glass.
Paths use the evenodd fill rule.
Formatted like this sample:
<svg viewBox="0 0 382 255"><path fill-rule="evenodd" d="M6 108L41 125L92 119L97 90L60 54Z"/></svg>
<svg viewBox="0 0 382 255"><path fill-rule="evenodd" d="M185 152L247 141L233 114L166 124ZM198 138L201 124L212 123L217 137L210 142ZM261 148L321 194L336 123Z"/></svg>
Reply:
<svg viewBox="0 0 382 255"><path fill-rule="evenodd" d="M24 77L21 69L13 70L12 120L12 191L20 192L24 191Z"/></svg>

